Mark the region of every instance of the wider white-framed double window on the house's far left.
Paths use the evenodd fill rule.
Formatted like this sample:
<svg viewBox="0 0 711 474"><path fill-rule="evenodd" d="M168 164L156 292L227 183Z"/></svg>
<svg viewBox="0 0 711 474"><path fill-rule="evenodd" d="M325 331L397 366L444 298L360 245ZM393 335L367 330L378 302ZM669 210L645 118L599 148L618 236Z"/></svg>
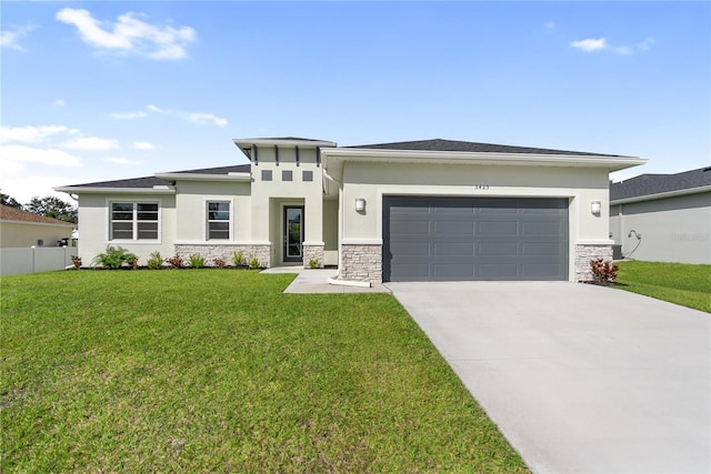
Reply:
<svg viewBox="0 0 711 474"><path fill-rule="evenodd" d="M158 203L112 202L110 240L158 240Z"/></svg>

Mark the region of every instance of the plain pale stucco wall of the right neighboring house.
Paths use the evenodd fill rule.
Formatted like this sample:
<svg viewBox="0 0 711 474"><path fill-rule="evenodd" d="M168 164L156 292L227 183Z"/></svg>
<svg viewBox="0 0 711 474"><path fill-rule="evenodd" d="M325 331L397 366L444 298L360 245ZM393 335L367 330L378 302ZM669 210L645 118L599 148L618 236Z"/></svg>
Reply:
<svg viewBox="0 0 711 474"><path fill-rule="evenodd" d="M611 214L610 232L624 256L711 264L711 192L618 204ZM631 230L642 240L628 238Z"/></svg>

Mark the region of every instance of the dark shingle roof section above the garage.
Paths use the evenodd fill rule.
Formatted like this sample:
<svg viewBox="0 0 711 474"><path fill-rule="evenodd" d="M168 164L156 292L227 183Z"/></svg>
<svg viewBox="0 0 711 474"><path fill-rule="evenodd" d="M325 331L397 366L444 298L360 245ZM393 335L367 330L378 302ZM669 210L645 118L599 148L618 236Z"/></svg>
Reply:
<svg viewBox="0 0 711 474"><path fill-rule="evenodd" d="M373 150L418 150L418 151L463 151L479 153L534 153L534 154L578 154L591 157L620 157L618 154L590 153L581 151L549 150L545 148L512 147L505 144L464 142L457 140L419 140L409 142L350 145L343 148L363 148Z"/></svg>

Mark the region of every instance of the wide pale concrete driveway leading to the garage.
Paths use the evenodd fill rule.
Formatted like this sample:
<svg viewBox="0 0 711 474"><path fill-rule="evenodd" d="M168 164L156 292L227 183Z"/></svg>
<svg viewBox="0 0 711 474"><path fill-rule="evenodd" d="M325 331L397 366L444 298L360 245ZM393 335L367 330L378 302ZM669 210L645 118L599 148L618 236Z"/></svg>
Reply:
<svg viewBox="0 0 711 474"><path fill-rule="evenodd" d="M533 472L711 472L708 313L580 283L387 286Z"/></svg>

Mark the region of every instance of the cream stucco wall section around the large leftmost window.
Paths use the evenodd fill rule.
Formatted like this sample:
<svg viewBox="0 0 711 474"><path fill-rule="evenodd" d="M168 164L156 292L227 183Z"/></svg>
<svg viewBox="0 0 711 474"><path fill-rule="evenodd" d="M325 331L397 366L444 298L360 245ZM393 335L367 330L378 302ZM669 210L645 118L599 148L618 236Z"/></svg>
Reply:
<svg viewBox="0 0 711 474"><path fill-rule="evenodd" d="M110 202L158 202L158 240L109 240ZM79 195L79 256L84 265L106 251L107 245L122 246L139 258L141 265L151 252L163 258L173 255L176 239L176 196L171 194L80 194Z"/></svg>

